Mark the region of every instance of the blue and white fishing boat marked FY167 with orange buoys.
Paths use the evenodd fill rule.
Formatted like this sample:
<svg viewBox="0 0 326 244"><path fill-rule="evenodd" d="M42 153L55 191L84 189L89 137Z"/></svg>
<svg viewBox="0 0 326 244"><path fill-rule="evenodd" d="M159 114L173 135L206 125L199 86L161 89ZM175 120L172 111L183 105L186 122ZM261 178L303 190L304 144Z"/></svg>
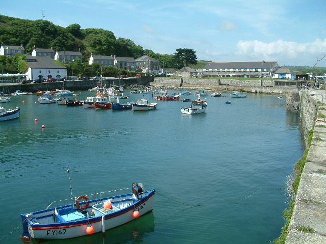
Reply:
<svg viewBox="0 0 326 244"><path fill-rule="evenodd" d="M129 188L115 191L126 189ZM20 238L24 241L69 239L105 233L105 230L124 225L153 210L155 189L146 191L143 184L133 183L131 193L104 197L115 191L78 198L71 193L72 204L49 208L52 202L44 210L22 214L23 233ZM99 198L90 200L96 196Z"/></svg>

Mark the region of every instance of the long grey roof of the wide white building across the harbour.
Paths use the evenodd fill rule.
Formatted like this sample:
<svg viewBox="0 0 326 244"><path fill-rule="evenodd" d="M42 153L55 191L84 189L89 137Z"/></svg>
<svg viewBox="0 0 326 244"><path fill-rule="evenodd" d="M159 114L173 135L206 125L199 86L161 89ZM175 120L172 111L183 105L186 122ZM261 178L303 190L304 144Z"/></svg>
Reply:
<svg viewBox="0 0 326 244"><path fill-rule="evenodd" d="M204 69L271 69L276 62L209 62Z"/></svg>

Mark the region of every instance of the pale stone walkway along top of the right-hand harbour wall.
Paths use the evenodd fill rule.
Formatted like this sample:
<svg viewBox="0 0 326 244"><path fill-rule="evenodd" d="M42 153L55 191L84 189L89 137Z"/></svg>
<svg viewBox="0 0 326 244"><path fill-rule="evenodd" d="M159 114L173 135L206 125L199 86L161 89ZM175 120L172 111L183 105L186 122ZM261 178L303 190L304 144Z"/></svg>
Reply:
<svg viewBox="0 0 326 244"><path fill-rule="evenodd" d="M326 93L313 89L306 92L313 95L319 107L286 244L326 243Z"/></svg>

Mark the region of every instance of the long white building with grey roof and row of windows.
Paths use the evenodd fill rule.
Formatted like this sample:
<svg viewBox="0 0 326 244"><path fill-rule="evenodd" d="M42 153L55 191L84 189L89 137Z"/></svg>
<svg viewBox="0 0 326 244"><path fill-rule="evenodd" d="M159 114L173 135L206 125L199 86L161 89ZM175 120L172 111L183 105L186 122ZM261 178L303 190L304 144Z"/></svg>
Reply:
<svg viewBox="0 0 326 244"><path fill-rule="evenodd" d="M271 78L278 68L277 62L209 62L200 76Z"/></svg>

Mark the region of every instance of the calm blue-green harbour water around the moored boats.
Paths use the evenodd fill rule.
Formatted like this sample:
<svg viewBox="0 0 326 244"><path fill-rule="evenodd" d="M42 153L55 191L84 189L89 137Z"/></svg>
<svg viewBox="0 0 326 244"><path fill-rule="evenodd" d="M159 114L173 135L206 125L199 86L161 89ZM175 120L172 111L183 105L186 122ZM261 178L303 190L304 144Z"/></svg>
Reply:
<svg viewBox="0 0 326 244"><path fill-rule="evenodd" d="M74 196L143 182L156 189L154 210L105 237L47 243L270 243L284 226L284 182L303 155L298 116L276 96L223 95L205 97L206 113L195 115L180 101L140 112L38 104L36 95L1 104L21 112L0 124L0 238L20 214L71 197L69 165ZM21 233L0 242L19 243Z"/></svg>

